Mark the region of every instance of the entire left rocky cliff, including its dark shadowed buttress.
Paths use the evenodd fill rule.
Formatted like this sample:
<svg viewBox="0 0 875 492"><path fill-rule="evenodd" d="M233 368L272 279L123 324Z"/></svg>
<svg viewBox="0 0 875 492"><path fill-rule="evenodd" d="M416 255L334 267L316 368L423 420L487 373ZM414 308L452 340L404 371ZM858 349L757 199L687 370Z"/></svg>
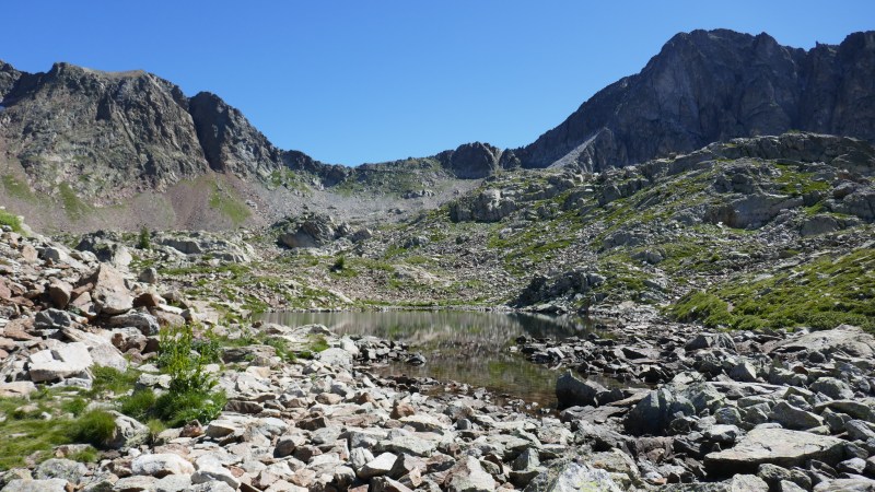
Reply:
<svg viewBox="0 0 875 492"><path fill-rule="evenodd" d="M245 178L284 165L238 109L142 71L56 63L30 74L0 63L0 159L40 191L66 183L112 199L208 171Z"/></svg>

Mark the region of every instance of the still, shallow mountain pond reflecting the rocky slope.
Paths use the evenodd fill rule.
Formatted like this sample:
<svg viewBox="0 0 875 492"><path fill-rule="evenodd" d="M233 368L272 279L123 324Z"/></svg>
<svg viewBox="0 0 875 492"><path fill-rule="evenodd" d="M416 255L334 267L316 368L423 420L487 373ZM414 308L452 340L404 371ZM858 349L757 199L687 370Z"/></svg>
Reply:
<svg viewBox="0 0 875 492"><path fill-rule="evenodd" d="M556 371L533 364L508 349L520 336L564 339L593 331L576 317L518 313L390 311L270 313L262 319L287 326L320 324L338 335L372 335L405 342L422 352L422 366L389 364L375 373L433 377L486 387L513 398L556 406ZM609 383L609 382L603 382Z"/></svg>

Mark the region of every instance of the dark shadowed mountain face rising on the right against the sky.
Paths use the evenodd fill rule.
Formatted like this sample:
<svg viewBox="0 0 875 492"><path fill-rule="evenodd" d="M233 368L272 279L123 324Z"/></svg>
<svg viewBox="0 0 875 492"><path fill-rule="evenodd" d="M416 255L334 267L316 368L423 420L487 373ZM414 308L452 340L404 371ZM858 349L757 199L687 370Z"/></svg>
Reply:
<svg viewBox="0 0 875 492"><path fill-rule="evenodd" d="M791 129L875 139L875 32L809 51L767 34L693 31L513 151L524 167L588 171Z"/></svg>

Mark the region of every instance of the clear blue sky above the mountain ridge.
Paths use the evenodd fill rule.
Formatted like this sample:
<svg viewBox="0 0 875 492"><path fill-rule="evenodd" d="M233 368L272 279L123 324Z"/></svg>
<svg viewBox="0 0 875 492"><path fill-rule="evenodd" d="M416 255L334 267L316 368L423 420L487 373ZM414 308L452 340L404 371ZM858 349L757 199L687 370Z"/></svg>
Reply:
<svg viewBox="0 0 875 492"><path fill-rule="evenodd" d="M810 48L875 28L875 1L11 1L0 59L144 69L219 94L275 144L342 164L515 148L637 73L674 34Z"/></svg>

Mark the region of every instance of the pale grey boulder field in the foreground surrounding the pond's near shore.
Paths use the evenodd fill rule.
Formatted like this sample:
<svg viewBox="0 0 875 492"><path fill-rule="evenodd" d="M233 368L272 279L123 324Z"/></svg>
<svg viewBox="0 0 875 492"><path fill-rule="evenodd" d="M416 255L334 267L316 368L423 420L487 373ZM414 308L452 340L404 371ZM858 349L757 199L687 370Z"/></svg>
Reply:
<svg viewBox="0 0 875 492"><path fill-rule="evenodd" d="M485 390L374 376L374 362L413 362L392 341L215 321L155 276L45 237L4 231L0 248L0 400L14 403L0 425L69 419L40 393L74 398L100 367L171 391L158 361L173 327L221 337L203 371L226 399L209 421L155 432L118 411L131 390L100 393L85 409L110 412L114 429L97 455L73 459L79 443L28 455L0 476L4 491L875 487L875 339L854 327L707 332L641 312L582 339L521 338L523 356L574 370L557 383L561 411L526 412Z"/></svg>

